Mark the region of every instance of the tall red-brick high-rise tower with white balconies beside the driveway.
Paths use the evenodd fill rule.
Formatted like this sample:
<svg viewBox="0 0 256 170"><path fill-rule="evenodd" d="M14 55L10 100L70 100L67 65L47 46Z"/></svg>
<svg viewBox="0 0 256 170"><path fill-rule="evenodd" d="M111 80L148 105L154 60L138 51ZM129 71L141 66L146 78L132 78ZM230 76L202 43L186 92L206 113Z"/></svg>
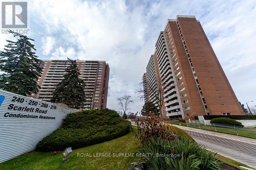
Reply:
<svg viewBox="0 0 256 170"><path fill-rule="evenodd" d="M158 89L163 89L162 109L166 111L163 116L243 114L195 16L168 19L158 37L154 56ZM147 74L150 73L146 70Z"/></svg>

